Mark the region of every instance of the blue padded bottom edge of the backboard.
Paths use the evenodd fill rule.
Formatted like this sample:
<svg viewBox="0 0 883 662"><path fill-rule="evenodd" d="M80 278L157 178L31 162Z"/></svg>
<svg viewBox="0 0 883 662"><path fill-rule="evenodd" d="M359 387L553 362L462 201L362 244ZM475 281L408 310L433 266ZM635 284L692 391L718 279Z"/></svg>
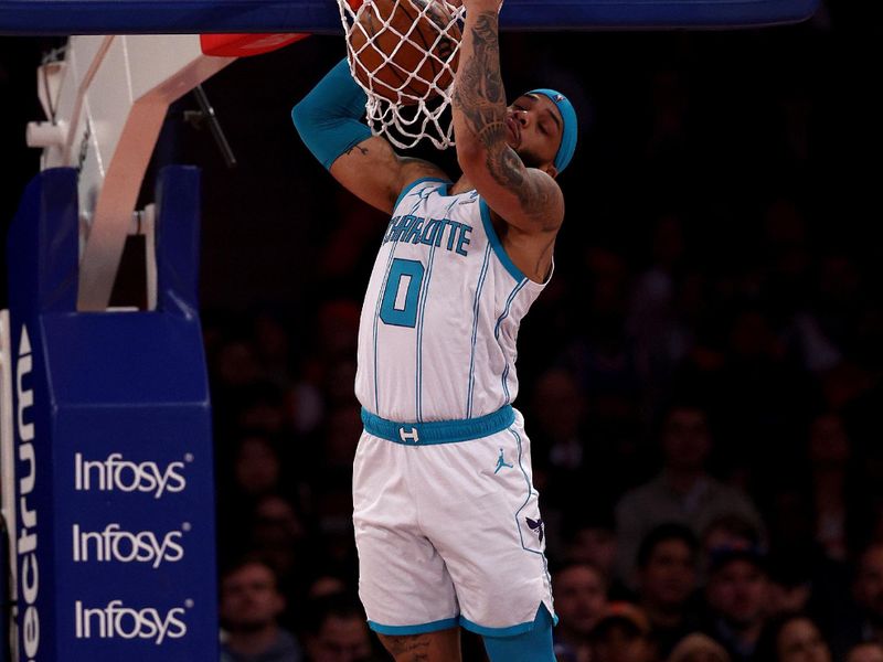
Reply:
<svg viewBox="0 0 883 662"><path fill-rule="evenodd" d="M796 23L819 0L506 0L503 30L728 29ZM0 0L0 34L339 34L333 0Z"/></svg>

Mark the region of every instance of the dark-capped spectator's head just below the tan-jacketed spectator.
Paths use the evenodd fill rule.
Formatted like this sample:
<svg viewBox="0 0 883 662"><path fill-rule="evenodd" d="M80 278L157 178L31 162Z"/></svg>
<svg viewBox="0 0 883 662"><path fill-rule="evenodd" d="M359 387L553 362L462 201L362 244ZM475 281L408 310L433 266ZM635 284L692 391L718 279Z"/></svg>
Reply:
<svg viewBox="0 0 883 662"><path fill-rule="evenodd" d="M755 649L766 618L767 588L765 557L757 548L711 551L705 632L724 645L734 662L756 660Z"/></svg>

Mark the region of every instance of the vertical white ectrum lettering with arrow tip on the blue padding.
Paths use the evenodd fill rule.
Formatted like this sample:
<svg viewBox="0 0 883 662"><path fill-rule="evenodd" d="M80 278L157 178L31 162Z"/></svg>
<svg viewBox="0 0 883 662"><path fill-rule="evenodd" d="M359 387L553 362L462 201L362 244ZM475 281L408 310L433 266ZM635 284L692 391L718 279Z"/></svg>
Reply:
<svg viewBox="0 0 883 662"><path fill-rule="evenodd" d="M29 661L36 658L40 650L40 613L36 609L36 598L40 595L40 572L36 558L36 508L30 498L36 485L36 451L34 450L34 424L30 418L30 409L34 404L34 392L24 387L24 377L33 370L31 356L31 340L28 338L28 328L22 325L21 340L19 341L19 356L15 362L15 396L18 407L15 412L15 430L19 437L18 447L18 476L19 476L19 586L23 605L19 637L22 642L24 655Z"/></svg>

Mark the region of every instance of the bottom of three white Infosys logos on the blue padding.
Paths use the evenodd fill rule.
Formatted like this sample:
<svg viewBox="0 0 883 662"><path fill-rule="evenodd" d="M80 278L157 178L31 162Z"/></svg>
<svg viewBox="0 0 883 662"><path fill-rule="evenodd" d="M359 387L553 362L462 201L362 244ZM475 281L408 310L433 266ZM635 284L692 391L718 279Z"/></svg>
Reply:
<svg viewBox="0 0 883 662"><path fill-rule="evenodd" d="M173 607L166 613L153 607L135 609L123 600L110 600L106 607L86 607L81 600L74 604L75 634L77 639L146 639L162 645L167 639L181 639L187 634L184 615L192 607Z"/></svg>

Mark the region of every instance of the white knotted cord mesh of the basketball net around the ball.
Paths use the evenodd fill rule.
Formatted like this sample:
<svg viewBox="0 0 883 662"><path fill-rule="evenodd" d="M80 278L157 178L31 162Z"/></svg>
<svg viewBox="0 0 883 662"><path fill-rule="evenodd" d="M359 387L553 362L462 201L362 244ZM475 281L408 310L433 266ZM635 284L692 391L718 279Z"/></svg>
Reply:
<svg viewBox="0 0 883 662"><path fill-rule="evenodd" d="M364 2L360 0L338 0L340 19L347 38L347 58L350 64L350 73L368 95L368 103L365 104L368 126L373 135L383 135L390 142L401 149L412 148L423 139L430 140L437 149L447 149L454 145L454 122L449 113L454 89L450 83L439 85L438 81L451 82L454 79L454 67L460 49L460 28L462 26L466 10L461 4L455 4L449 0L390 1L395 4L393 10L390 11L390 17L396 15L400 4L406 4L409 12L418 10L419 14L404 32L401 25L396 26L390 19L380 21L383 26L375 30L372 35L360 23L359 18L362 12L374 4L374 0L364 0ZM379 15L380 12L374 11L375 20L377 20ZM428 46L417 30L422 19L432 21L438 30L435 41ZM364 38L364 43L358 49L353 46L352 40L352 35L357 31L360 32L360 36ZM396 39L400 40L398 45L387 54L384 54L380 47L374 47L373 56L380 56L380 63L373 70L366 68L359 55L365 49L372 47L374 40L379 39L380 35L384 35L384 40L389 40L390 33L396 35ZM450 45L449 49L444 49L444 57L436 52L442 41L447 41ZM401 71L401 67L392 64L392 60L404 43L408 43L424 53L424 58L414 67L414 72L403 72L405 79L395 88L394 92L397 98L392 100L380 94L379 90L382 89L389 95L391 87L389 84L379 84L375 74L386 66L396 67ZM432 66L424 67L423 65L426 62L432 62ZM433 79L426 79L419 75L423 68L436 72ZM364 78L366 83L363 83L360 77ZM418 89L425 88L426 92L421 96L415 96L413 93L414 87Z"/></svg>

